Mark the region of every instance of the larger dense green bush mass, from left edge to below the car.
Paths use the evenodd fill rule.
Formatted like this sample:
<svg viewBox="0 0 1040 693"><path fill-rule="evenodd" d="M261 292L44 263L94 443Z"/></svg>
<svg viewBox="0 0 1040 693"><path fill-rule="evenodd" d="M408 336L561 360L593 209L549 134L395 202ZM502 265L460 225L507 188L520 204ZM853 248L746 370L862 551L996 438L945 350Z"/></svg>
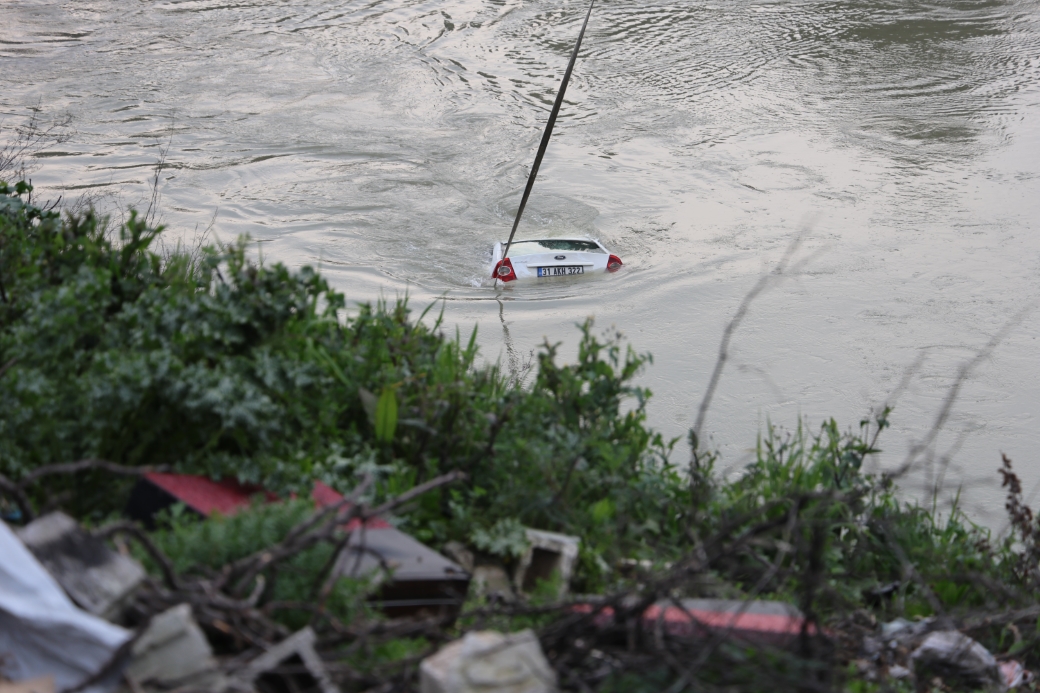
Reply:
<svg viewBox="0 0 1040 693"><path fill-rule="evenodd" d="M113 231L0 190L0 473L101 458L280 493L372 473L378 500L461 469L468 483L420 498L407 530L435 544L518 523L579 534L590 587L617 558L676 544L685 484L630 385L648 357L618 335L587 323L576 363L547 344L519 388L476 363L475 334L447 338L404 302L343 320L313 270L258 265L244 241L164 259L134 214ZM75 484L81 515L125 500L107 477Z"/></svg>

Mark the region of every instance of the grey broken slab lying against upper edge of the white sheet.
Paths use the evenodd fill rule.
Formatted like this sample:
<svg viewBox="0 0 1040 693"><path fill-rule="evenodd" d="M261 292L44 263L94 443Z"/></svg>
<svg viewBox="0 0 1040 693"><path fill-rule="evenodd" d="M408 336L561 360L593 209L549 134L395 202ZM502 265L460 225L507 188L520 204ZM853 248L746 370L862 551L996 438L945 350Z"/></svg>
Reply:
<svg viewBox="0 0 1040 693"><path fill-rule="evenodd" d="M53 512L17 531L19 539L80 608L110 621L145 580L145 568Z"/></svg>

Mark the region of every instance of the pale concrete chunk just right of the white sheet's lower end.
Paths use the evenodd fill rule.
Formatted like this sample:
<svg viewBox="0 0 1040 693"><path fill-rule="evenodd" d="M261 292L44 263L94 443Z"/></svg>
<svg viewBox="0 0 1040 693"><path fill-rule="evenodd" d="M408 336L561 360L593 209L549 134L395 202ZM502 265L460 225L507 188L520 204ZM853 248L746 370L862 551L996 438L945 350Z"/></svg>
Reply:
<svg viewBox="0 0 1040 693"><path fill-rule="evenodd" d="M178 605L153 616L130 651L132 659L125 675L137 687L156 685L165 690L191 684L215 691L226 686L190 605Z"/></svg>

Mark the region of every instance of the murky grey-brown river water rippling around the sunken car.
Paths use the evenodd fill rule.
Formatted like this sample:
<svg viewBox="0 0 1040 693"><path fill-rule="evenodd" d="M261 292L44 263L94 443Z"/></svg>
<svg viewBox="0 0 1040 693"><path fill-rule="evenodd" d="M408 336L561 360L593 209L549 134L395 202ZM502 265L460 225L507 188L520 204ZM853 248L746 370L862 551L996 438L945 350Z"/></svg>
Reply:
<svg viewBox="0 0 1040 693"><path fill-rule="evenodd" d="M1040 294L1036 0L600 0L520 237L582 234L613 276L491 287L586 6L574 0L0 0L0 112L69 113L44 198L159 209L172 239L250 234L352 301L445 297L522 365L595 315L654 363L682 436L743 297L705 434L738 468L768 421L855 426L899 390L883 464ZM84 197L85 196L85 197ZM963 380L907 484L1000 525L1005 452L1040 483L1040 315ZM901 387L901 384L904 387ZM686 451L680 442L675 459ZM930 481L931 480L931 481Z"/></svg>

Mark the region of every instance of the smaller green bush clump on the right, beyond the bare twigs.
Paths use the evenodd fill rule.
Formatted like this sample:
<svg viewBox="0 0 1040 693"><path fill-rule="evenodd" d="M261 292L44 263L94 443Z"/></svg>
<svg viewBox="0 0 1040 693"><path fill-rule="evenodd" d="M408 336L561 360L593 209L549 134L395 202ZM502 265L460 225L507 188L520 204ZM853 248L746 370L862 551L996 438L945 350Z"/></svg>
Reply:
<svg viewBox="0 0 1040 693"><path fill-rule="evenodd" d="M698 490L708 498L698 527L702 536L724 528L777 525L759 547L721 561L731 583L744 589L758 585L797 604L811 572L809 547L818 530L824 582L816 606L825 613L864 602L882 618L992 606L997 595L989 585L1013 579L1006 561L1010 546L995 549L989 532L956 506L940 514L908 504L896 496L890 479L862 471L863 461L877 452L887 414L863 421L858 434L840 432L833 419L817 434L770 427L739 479L706 482L708 488ZM801 519L789 530L784 520L794 513ZM771 565L777 569L770 578ZM874 596L886 585L894 589Z"/></svg>

